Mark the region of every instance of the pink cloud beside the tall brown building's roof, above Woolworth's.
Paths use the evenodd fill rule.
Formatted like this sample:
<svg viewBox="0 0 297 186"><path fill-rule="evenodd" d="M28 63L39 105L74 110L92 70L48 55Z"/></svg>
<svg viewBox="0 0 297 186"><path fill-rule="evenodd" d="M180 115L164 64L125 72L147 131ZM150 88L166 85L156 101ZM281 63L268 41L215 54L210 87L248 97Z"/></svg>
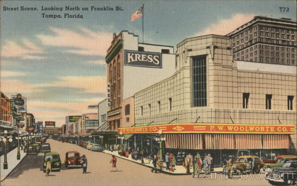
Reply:
<svg viewBox="0 0 297 186"><path fill-rule="evenodd" d="M235 14L230 19L222 19L211 24L208 28L198 32L195 36L204 36L209 34L226 35L252 20L253 17L253 14Z"/></svg>

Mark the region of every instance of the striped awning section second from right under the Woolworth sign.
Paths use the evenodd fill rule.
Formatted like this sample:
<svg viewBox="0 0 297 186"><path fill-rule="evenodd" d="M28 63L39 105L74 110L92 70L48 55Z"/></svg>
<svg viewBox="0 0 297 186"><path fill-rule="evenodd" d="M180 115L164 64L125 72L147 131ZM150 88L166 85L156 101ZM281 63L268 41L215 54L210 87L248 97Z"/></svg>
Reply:
<svg viewBox="0 0 297 186"><path fill-rule="evenodd" d="M261 134L235 134L235 149L262 149Z"/></svg>

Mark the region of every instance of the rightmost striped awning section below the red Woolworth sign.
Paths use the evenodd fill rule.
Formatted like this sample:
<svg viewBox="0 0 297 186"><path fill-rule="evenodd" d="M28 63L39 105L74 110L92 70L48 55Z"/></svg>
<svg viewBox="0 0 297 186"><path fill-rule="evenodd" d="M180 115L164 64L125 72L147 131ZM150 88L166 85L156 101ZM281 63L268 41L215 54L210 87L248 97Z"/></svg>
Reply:
<svg viewBox="0 0 297 186"><path fill-rule="evenodd" d="M263 135L263 149L289 149L290 137L288 134Z"/></svg>

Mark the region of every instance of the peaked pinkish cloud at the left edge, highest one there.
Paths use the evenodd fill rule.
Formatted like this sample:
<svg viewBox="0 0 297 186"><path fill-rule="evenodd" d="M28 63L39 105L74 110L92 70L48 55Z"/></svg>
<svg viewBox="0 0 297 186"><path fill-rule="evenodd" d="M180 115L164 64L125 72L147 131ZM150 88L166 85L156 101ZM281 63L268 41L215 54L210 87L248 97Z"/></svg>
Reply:
<svg viewBox="0 0 297 186"><path fill-rule="evenodd" d="M7 40L1 48L2 57L20 57L21 59L44 59L40 56L43 50L28 39L23 39L22 45Z"/></svg>

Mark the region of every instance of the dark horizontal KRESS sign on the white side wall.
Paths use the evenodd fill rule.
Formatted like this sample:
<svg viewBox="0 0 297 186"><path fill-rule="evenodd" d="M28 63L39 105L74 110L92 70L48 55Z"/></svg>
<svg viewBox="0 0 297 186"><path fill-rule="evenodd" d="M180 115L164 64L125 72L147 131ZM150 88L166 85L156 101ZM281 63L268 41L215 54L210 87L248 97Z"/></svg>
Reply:
<svg viewBox="0 0 297 186"><path fill-rule="evenodd" d="M156 52L125 50L125 65L162 68L162 54Z"/></svg>

